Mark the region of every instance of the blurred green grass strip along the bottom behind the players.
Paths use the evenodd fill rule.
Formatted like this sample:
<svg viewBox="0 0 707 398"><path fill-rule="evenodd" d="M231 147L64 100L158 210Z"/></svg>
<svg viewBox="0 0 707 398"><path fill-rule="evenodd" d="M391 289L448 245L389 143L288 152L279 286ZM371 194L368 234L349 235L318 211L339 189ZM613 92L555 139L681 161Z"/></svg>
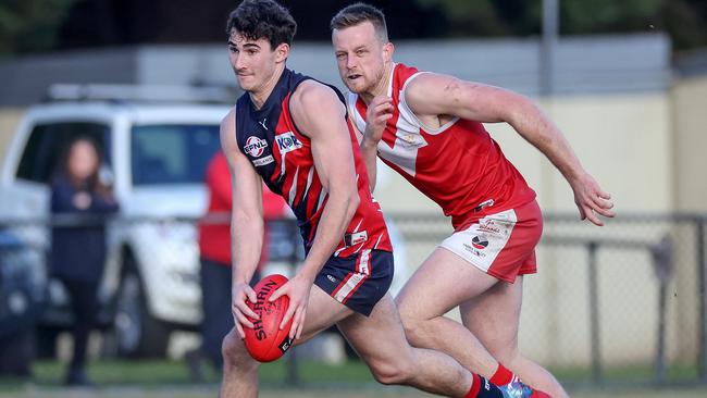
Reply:
<svg viewBox="0 0 707 398"><path fill-rule="evenodd" d="M707 397L707 386L683 387L680 389L652 389L646 383L636 383L649 370L635 368L613 370L608 377L629 381L617 387L591 388L587 383L569 382L571 395L580 398L604 397ZM146 397L146 398L206 398L214 397L218 391L218 375L209 371L206 382L195 384L189 378L185 363L172 361L98 361L92 362L89 374L96 382L92 389L67 389L61 385L63 364L57 361L39 361L33 369L30 382L0 378L0 398L17 397ZM261 366L260 383L262 398L373 398L373 397L430 397L411 388L384 387L371 377L365 365L360 362L347 362L342 365L324 365L315 362L298 364L300 386L285 383L288 366L285 361ZM578 370L558 372L562 380L586 380L586 374ZM648 372L649 374L649 372ZM692 370L674 369L671 381L692 378ZM675 378L677 377L677 378ZM644 378L645 380L645 378ZM335 382L333 382L335 381ZM632 382L633 381L633 382ZM641 387L642 386L642 387Z"/></svg>

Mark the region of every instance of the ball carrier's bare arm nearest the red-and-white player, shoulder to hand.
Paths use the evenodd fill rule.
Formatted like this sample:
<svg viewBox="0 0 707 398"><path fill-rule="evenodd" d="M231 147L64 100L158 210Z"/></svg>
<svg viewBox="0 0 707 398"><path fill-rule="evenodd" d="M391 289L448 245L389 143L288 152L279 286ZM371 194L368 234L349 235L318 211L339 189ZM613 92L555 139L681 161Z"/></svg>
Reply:
<svg viewBox="0 0 707 398"><path fill-rule="evenodd" d="M282 325L294 316L290 337L299 338L310 288L342 240L360 199L346 112L334 91L313 80L303 82L293 95L290 112L302 134L311 139L314 167L328 192L317 235L301 271L271 297L271 300L275 300L283 295L289 296L289 307Z"/></svg>

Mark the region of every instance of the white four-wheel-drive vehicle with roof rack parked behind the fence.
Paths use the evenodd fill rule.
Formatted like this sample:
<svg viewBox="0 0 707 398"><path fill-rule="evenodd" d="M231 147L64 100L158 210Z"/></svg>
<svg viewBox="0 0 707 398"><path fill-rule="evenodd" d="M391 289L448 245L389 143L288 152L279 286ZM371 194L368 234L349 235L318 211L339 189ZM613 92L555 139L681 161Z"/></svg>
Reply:
<svg viewBox="0 0 707 398"><path fill-rule="evenodd" d="M48 249L48 182L57 158L73 137L92 137L121 206L120 221L108 227L99 318L114 324L119 352L163 356L171 331L201 321L194 220L206 209L204 171L230 107L204 103L214 91L187 88L63 85L51 92L54 99L32 107L12 137L0 171L0 220L36 221L14 232ZM236 94L216 97L233 103ZM45 331L71 322L61 311L62 286L49 287Z"/></svg>

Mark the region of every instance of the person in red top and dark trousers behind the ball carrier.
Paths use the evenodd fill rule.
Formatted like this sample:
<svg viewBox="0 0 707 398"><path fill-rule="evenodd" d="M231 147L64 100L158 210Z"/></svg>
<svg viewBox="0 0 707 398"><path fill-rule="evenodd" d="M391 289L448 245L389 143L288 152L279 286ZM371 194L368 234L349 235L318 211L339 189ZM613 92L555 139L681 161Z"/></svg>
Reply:
<svg viewBox="0 0 707 398"><path fill-rule="evenodd" d="M209 191L209 210L204 220L199 224L199 251L201 258L201 303L203 321L201 323L200 352L190 352L187 361L191 375L202 378L199 362L204 356L218 370L223 368L221 341L233 328L231 313L231 209L233 189L228 162L222 151L219 151L209 162L206 174ZM284 215L285 201L269 189L263 189L263 214L266 220ZM268 229L265 228L265 241ZM260 279L260 270L268 260L268 245L263 245L260 263L252 283Z"/></svg>

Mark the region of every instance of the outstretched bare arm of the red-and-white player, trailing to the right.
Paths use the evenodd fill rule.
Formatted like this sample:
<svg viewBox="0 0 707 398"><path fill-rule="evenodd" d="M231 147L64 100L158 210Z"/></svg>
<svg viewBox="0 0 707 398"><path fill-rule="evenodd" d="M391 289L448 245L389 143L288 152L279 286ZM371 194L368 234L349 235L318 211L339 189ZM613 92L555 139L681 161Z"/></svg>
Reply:
<svg viewBox="0 0 707 398"><path fill-rule="evenodd" d="M611 196L582 167L559 128L528 98L494 86L425 73L410 82L406 101L421 122L432 123L432 127L444 124L450 116L510 124L562 173L574 191L582 220L588 219L600 226L604 222L595 213L616 215L610 210Z"/></svg>

